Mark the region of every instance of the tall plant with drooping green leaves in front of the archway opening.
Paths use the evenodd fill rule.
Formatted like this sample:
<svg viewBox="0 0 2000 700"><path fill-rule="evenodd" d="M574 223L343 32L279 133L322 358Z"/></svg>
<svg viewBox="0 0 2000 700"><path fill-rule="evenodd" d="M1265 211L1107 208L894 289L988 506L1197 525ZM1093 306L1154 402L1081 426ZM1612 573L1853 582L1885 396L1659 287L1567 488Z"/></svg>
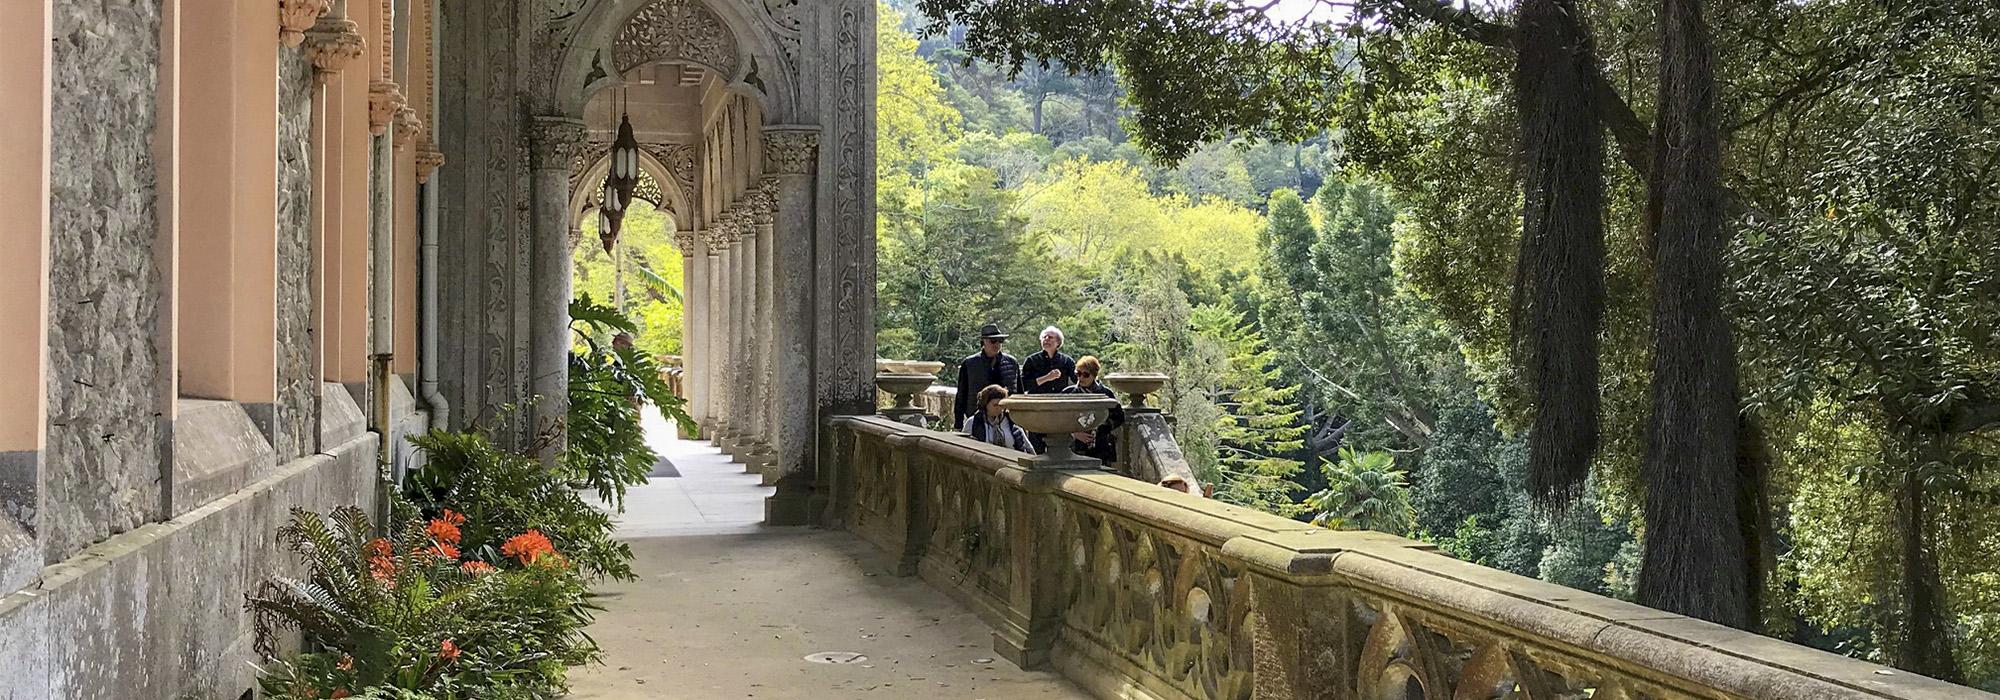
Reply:
<svg viewBox="0 0 2000 700"><path fill-rule="evenodd" d="M570 420L562 462L598 498L624 508L628 486L646 482L658 454L646 446L640 426L644 404L654 404L668 420L694 424L680 396L666 384L664 368L632 344L638 326L616 308L590 294L570 302L570 328L578 344L570 352Z"/></svg>

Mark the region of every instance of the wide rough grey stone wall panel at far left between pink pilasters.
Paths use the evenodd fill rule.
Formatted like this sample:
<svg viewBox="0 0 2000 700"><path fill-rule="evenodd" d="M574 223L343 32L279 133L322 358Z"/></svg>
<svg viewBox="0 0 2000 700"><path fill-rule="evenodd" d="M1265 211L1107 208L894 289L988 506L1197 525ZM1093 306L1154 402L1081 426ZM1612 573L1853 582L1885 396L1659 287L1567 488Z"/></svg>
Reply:
<svg viewBox="0 0 2000 700"><path fill-rule="evenodd" d="M160 0L56 2L50 80L48 448L40 536L60 562L160 516L152 134Z"/></svg>

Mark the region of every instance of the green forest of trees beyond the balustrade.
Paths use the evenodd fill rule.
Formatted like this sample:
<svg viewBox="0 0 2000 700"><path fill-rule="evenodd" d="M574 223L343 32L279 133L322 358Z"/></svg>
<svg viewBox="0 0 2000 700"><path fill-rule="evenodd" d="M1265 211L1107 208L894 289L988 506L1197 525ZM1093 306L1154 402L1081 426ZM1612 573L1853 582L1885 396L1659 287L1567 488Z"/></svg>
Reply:
<svg viewBox="0 0 2000 700"><path fill-rule="evenodd" d="M1220 500L2000 690L2000 6L1280 6L884 4L880 356L1054 324Z"/></svg>

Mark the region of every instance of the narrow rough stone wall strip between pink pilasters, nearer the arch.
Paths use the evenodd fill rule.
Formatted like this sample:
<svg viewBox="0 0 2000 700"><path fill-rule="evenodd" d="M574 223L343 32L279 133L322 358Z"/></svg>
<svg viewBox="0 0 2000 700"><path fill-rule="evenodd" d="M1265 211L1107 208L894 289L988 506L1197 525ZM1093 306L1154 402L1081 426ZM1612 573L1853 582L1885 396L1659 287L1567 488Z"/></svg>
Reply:
<svg viewBox="0 0 2000 700"><path fill-rule="evenodd" d="M320 418L312 354L312 62L278 50L278 460L314 452Z"/></svg>

